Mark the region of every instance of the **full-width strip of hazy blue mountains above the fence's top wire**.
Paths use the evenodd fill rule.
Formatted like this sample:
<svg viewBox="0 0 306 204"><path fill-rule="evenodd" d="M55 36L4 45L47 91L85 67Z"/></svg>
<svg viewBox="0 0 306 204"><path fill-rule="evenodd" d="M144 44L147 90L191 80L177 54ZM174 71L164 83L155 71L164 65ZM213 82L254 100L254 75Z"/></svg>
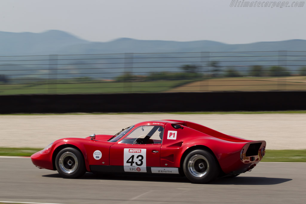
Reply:
<svg viewBox="0 0 306 204"><path fill-rule="evenodd" d="M50 30L43 33L0 32L0 55L107 54L152 52L229 52L229 51L305 51L306 40L285 40L248 44L225 44L209 40L190 42L115 39L89 42L69 33Z"/></svg>

